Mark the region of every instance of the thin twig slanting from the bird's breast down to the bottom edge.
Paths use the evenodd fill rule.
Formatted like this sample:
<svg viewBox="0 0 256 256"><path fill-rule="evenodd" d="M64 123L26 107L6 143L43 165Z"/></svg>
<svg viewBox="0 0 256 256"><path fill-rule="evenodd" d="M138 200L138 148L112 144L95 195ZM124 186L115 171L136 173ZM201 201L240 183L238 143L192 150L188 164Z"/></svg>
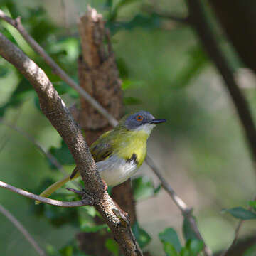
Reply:
<svg viewBox="0 0 256 256"><path fill-rule="evenodd" d="M174 189L171 188L169 183L167 183L165 178L160 174L160 171L156 167L156 164L154 164L154 161L149 156L146 156L146 164L148 164L151 167L151 169L154 171L156 176L159 178L159 180L161 181L161 186L166 190L167 193L169 193L169 196L171 196L176 206L181 210L181 213L183 214L184 218L185 217L188 218L188 221L191 224L191 228L193 229L197 238L203 241L205 254L209 256L212 255L210 248L206 245L206 243L203 240L203 237L201 236L201 233L198 230L198 226L196 225L196 220L195 218L193 218L193 215L192 215L192 208L189 208L186 205L186 203L180 197L178 197Z"/></svg>

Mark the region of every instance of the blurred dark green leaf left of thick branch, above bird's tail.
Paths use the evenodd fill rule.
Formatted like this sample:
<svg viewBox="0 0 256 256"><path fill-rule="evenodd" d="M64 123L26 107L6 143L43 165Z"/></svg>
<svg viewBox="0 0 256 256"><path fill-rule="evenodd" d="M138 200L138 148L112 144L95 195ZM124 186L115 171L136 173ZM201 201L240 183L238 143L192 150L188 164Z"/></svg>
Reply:
<svg viewBox="0 0 256 256"><path fill-rule="evenodd" d="M75 161L73 159L73 156L70 154L68 146L63 141L61 142L60 148L55 148L54 146L52 146L50 148L50 154L53 154L53 156L55 156L55 158L58 159L60 164L75 164ZM52 169L56 169L56 167L53 166L53 164L51 164L50 162L49 164Z"/></svg>

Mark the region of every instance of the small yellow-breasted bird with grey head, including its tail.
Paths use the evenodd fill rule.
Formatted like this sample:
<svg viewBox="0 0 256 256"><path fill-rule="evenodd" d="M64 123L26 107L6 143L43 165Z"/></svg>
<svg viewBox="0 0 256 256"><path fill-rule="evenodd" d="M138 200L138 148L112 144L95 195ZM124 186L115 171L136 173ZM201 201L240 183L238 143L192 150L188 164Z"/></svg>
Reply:
<svg viewBox="0 0 256 256"><path fill-rule="evenodd" d="M127 114L114 129L102 134L90 146L97 170L107 186L117 186L135 174L146 157L146 142L152 129L156 124L163 122L166 120L155 119L152 114L144 110ZM65 176L53 183L40 196L50 196L78 176L79 171L75 168L71 176Z"/></svg>

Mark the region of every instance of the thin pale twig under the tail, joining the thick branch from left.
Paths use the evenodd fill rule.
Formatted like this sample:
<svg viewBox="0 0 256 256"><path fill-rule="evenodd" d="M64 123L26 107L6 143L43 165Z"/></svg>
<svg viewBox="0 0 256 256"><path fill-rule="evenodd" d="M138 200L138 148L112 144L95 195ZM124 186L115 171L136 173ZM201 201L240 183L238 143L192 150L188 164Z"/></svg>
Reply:
<svg viewBox="0 0 256 256"><path fill-rule="evenodd" d="M31 198L35 201L40 201L42 203L48 203L52 206L62 206L62 207L78 207L78 206L90 206L92 205L92 200L91 198L85 198L80 201L59 201L59 200L54 200L50 198L45 198L42 196L35 195L33 193L30 193L28 191L24 191L21 188L16 188L15 186L11 186L3 181L0 181L0 187L1 188L6 188L9 191L13 191L14 193L18 193L21 196L25 196L27 198Z"/></svg>

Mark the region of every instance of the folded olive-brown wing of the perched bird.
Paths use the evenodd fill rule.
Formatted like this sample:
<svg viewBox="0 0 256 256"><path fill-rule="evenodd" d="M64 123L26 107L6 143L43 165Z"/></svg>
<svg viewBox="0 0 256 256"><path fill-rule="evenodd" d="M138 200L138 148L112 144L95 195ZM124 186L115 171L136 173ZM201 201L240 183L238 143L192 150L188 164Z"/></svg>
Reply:
<svg viewBox="0 0 256 256"><path fill-rule="evenodd" d="M95 162L105 160L112 154L114 140L112 139L111 132L105 132L90 146Z"/></svg>

